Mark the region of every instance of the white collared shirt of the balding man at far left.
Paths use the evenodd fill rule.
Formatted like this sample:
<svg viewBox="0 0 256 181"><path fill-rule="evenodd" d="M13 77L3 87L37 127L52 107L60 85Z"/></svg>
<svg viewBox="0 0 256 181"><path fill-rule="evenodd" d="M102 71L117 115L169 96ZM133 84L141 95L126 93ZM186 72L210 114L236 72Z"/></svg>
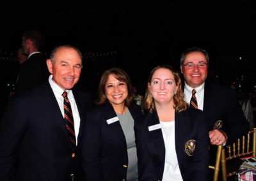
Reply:
<svg viewBox="0 0 256 181"><path fill-rule="evenodd" d="M58 102L58 105L60 106L60 110L61 110L61 113L64 118L64 107L63 107L64 98L62 96L64 91L63 91L63 89L60 88L59 85L57 85L55 82L52 81L52 75L49 76L49 83L51 85L54 96ZM72 91L66 90L66 92L68 93L68 100L70 102L72 113L73 113L74 128L75 128L75 133L76 133L76 144L77 144L77 136L78 136L79 127L80 127L80 116L79 116L79 112L77 110L76 101L75 101Z"/></svg>

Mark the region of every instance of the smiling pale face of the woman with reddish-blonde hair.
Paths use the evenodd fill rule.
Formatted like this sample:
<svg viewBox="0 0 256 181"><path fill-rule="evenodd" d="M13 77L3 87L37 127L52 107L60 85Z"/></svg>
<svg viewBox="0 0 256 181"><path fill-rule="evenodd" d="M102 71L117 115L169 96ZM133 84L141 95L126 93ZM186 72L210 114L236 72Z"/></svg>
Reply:
<svg viewBox="0 0 256 181"><path fill-rule="evenodd" d="M173 106L173 96L177 92L178 85L175 82L172 71L165 68L157 69L152 75L148 87L156 106L163 104Z"/></svg>

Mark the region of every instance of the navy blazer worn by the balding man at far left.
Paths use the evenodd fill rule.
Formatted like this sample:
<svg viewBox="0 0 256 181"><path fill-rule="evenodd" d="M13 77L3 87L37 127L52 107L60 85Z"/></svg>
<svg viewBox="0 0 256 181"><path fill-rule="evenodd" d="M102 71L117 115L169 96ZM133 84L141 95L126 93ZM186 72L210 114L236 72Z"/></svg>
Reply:
<svg viewBox="0 0 256 181"><path fill-rule="evenodd" d="M72 92L82 127L92 101L84 92ZM70 180L71 173L79 180L83 177L81 131L73 149L48 81L15 94L0 127L0 180Z"/></svg>

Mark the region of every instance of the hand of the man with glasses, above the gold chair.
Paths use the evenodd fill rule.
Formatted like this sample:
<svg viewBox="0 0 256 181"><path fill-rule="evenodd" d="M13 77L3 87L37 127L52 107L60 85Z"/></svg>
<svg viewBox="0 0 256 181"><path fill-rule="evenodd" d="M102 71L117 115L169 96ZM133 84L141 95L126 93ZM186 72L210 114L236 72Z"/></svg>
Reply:
<svg viewBox="0 0 256 181"><path fill-rule="evenodd" d="M211 139L212 145L222 145L225 143L225 141L227 141L226 133L219 129L213 129L212 131L209 131L209 137Z"/></svg>

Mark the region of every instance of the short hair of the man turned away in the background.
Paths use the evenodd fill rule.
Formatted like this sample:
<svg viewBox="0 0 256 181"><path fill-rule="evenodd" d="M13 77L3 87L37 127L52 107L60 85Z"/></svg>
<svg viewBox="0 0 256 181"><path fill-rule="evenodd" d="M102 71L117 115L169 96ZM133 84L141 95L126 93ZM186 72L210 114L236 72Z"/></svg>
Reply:
<svg viewBox="0 0 256 181"><path fill-rule="evenodd" d="M44 35L40 31L28 30L22 35L24 40L31 40L33 46L41 50L44 47Z"/></svg>

